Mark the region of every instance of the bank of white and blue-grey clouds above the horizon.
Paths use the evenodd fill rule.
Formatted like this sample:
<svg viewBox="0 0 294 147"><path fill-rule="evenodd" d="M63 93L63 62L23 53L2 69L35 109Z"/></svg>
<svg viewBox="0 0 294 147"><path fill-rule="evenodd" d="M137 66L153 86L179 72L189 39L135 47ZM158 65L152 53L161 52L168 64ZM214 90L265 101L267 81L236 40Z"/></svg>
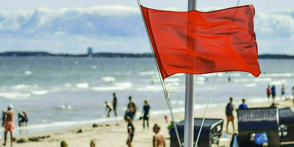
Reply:
<svg viewBox="0 0 294 147"><path fill-rule="evenodd" d="M209 7L200 11L220 9ZM164 10L177 11L175 7ZM293 54L294 9L256 12L259 54ZM42 50L83 53L151 52L138 7L111 5L90 8L0 11L0 52Z"/></svg>

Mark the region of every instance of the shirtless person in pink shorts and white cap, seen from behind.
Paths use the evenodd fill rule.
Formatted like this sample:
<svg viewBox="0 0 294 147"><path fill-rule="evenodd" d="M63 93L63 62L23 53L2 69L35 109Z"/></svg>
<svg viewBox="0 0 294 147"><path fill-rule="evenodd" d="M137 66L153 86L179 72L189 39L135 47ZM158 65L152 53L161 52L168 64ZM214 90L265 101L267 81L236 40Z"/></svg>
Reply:
<svg viewBox="0 0 294 147"><path fill-rule="evenodd" d="M13 105L9 104L7 107L7 111L5 114L5 118L4 118L4 143L3 145L6 145L6 140L7 140L7 132L10 132L10 141L11 141L11 145L13 143L13 135L12 133L14 132L14 111L12 110Z"/></svg>

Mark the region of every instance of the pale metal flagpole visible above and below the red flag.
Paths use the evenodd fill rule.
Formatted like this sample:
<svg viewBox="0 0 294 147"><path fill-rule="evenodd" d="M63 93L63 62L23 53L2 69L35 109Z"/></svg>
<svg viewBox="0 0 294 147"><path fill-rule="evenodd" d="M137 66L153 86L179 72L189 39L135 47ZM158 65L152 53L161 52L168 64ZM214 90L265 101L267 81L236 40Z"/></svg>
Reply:
<svg viewBox="0 0 294 147"><path fill-rule="evenodd" d="M188 11L196 10L197 0L188 0ZM195 75L186 74L184 147L193 147Z"/></svg>

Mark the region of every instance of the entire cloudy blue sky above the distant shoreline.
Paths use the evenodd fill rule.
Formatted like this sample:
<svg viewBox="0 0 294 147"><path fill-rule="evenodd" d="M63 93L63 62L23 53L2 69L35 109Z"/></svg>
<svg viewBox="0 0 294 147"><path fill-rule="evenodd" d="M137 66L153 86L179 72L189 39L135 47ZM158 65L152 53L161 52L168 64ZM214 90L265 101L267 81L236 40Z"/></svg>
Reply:
<svg viewBox="0 0 294 147"><path fill-rule="evenodd" d="M234 7L238 0L198 0L197 10ZM143 6L187 11L188 0L141 0ZM240 0L255 8L258 54L294 55L294 0ZM151 53L136 0L0 1L0 52Z"/></svg>

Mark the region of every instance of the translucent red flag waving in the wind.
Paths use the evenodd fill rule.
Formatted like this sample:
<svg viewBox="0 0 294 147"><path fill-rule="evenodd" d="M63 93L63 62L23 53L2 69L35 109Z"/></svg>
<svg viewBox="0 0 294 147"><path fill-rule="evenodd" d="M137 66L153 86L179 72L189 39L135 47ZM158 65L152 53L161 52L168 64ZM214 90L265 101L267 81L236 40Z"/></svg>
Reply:
<svg viewBox="0 0 294 147"><path fill-rule="evenodd" d="M210 12L141 10L163 80L223 71L259 76L253 5Z"/></svg>

